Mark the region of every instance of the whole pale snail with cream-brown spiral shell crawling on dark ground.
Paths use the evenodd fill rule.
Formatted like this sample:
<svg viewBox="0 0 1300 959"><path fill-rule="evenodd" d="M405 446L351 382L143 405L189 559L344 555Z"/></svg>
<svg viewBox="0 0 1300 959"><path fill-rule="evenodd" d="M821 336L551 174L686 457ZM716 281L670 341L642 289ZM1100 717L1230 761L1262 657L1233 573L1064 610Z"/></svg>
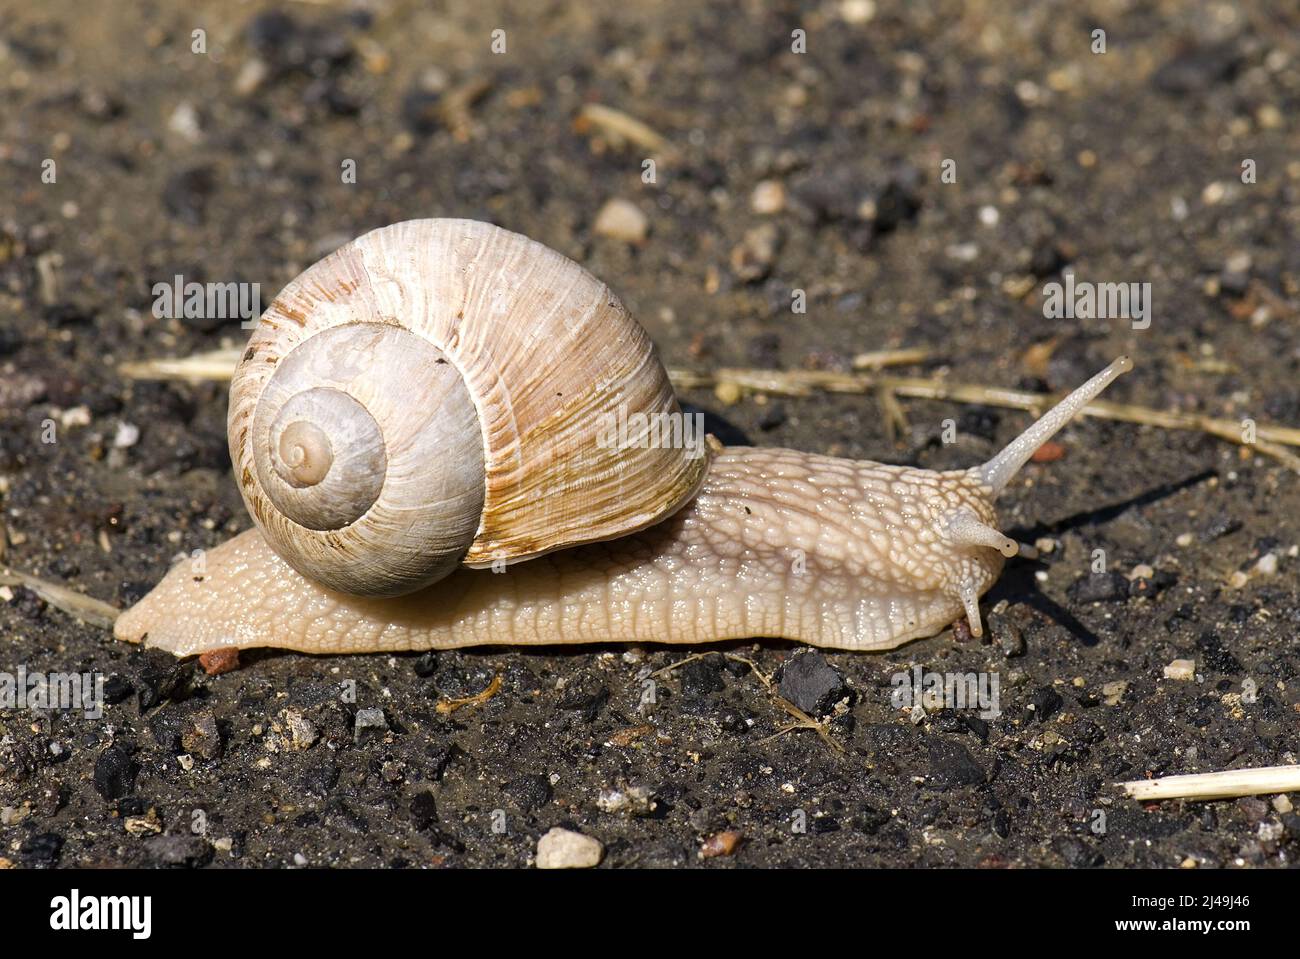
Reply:
<svg viewBox="0 0 1300 959"><path fill-rule="evenodd" d="M374 230L268 308L230 389L250 529L114 626L178 656L771 637L885 650L965 615L1018 544L994 500L1131 369L1119 357L983 465L610 443L680 416L602 282L465 220ZM602 439L604 437L604 439Z"/></svg>

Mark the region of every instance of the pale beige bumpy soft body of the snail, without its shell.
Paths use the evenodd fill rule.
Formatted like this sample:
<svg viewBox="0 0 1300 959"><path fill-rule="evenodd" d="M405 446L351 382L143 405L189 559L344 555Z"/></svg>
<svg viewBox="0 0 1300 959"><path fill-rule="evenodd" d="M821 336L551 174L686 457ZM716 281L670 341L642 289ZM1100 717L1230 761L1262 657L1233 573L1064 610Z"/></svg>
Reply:
<svg viewBox="0 0 1300 959"><path fill-rule="evenodd" d="M294 572L257 530L174 568L118 617L120 639L176 655L273 646L380 652L584 642L780 637L885 650L933 635L979 596L1017 544L993 500L1034 451L1130 369L1089 379L988 463L932 472L794 450L714 456L698 495L618 539L417 593L358 598Z"/></svg>

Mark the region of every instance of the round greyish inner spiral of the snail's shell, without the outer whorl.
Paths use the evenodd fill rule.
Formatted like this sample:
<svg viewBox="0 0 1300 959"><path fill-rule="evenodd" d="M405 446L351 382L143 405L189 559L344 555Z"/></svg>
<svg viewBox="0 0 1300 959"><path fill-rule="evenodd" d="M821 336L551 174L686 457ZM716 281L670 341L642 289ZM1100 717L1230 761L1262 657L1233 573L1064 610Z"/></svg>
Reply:
<svg viewBox="0 0 1300 959"><path fill-rule="evenodd" d="M387 324L334 326L261 391L251 509L304 576L344 593L411 593L473 541L481 435L464 381L432 343Z"/></svg>

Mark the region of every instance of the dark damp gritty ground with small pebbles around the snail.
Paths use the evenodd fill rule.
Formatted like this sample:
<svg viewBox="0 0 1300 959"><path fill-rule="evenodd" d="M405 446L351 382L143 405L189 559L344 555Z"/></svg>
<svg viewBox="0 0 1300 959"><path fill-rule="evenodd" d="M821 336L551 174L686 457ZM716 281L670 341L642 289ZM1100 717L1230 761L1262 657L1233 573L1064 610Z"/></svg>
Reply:
<svg viewBox="0 0 1300 959"><path fill-rule="evenodd" d="M156 320L153 285L269 299L412 217L578 260L675 366L927 347L905 373L1062 390L1127 352L1114 399L1300 425L1288 4L0 6L0 542L118 607L250 526L225 386L118 370L247 334ZM590 103L666 139L654 183ZM598 234L611 199L644 238ZM1149 327L1045 316L1063 269L1149 282ZM890 437L872 396L684 399L757 444L931 468L1028 422L905 400ZM1195 431L1058 442L1001 503L1053 548L984 598L989 642L801 659L755 638L677 669L656 646L252 652L209 676L9 587L0 669L101 673L109 704L0 711L0 862L526 867L564 825L604 867L1292 864L1286 802L1144 807L1115 784L1296 761L1300 477ZM900 708L915 667L996 676L1001 715ZM755 669L824 735L788 730Z"/></svg>

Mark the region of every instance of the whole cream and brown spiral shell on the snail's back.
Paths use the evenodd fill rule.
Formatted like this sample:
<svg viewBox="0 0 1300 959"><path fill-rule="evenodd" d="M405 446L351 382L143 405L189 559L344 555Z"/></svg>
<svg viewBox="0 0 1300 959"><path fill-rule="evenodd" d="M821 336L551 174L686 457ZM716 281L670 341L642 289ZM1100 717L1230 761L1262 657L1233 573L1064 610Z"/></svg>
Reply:
<svg viewBox="0 0 1300 959"><path fill-rule="evenodd" d="M676 512L698 450L610 443L608 417L679 415L654 344L610 288L469 220L360 237L261 317L230 387L244 503L316 582L400 595Z"/></svg>

